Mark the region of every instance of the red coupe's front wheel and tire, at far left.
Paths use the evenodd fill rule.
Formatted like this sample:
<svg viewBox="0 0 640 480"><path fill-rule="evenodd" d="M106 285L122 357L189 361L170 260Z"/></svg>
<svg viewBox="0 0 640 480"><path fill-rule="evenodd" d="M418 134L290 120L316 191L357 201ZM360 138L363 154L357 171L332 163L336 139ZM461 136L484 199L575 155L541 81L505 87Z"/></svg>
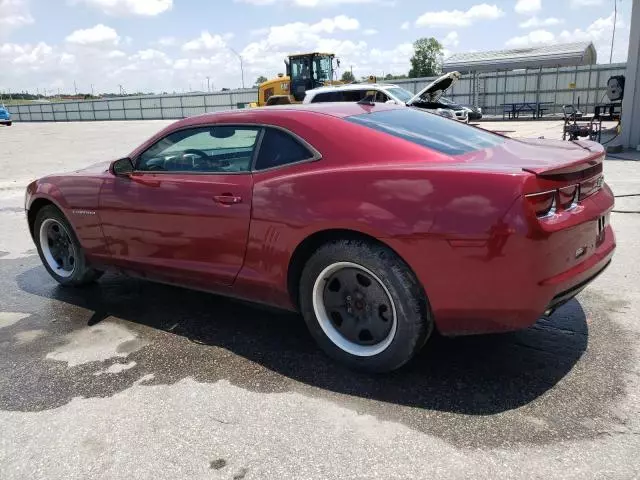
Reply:
<svg viewBox="0 0 640 480"><path fill-rule="evenodd" d="M73 228L55 206L47 205L38 211L33 237L44 267L59 284L80 287L102 275L87 264Z"/></svg>

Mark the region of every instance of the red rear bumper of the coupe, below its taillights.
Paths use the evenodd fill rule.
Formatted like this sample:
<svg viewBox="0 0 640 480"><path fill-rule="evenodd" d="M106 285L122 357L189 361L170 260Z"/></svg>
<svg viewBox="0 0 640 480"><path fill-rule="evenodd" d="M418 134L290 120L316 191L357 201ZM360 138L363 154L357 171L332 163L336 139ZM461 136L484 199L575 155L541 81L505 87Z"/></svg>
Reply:
<svg viewBox="0 0 640 480"><path fill-rule="evenodd" d="M392 246L416 259L412 267L440 333L520 330L573 298L607 267L615 234L610 225L602 236L598 229L612 208L613 195L605 188L562 226L534 231L522 221L516 202L489 235L432 237L407 253Z"/></svg>

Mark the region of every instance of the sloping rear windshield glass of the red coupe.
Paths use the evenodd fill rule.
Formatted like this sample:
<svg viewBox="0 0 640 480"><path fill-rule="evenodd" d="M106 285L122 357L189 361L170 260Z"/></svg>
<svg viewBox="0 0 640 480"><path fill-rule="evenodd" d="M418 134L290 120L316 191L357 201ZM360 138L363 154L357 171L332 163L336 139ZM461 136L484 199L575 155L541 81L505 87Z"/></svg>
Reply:
<svg viewBox="0 0 640 480"><path fill-rule="evenodd" d="M415 108L399 108L346 117L348 120L447 155L461 155L504 142L493 133Z"/></svg>

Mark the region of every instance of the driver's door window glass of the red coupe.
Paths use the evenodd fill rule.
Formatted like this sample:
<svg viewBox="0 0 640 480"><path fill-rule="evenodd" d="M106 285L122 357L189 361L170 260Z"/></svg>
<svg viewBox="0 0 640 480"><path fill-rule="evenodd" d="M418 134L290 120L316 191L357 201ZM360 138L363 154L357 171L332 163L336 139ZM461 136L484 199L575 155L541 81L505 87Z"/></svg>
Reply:
<svg viewBox="0 0 640 480"><path fill-rule="evenodd" d="M238 173L251 169L260 127L218 125L173 132L138 158L143 172Z"/></svg>

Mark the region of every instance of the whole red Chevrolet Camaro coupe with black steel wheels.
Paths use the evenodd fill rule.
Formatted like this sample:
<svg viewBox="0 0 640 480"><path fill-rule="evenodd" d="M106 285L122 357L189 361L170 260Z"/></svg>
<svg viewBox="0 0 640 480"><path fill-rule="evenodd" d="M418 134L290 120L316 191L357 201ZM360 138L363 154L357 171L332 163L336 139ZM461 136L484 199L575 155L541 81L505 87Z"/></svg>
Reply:
<svg viewBox="0 0 640 480"><path fill-rule="evenodd" d="M127 158L31 183L63 285L107 270L298 310L353 367L526 328L615 249L602 146L514 140L384 104L178 121Z"/></svg>

